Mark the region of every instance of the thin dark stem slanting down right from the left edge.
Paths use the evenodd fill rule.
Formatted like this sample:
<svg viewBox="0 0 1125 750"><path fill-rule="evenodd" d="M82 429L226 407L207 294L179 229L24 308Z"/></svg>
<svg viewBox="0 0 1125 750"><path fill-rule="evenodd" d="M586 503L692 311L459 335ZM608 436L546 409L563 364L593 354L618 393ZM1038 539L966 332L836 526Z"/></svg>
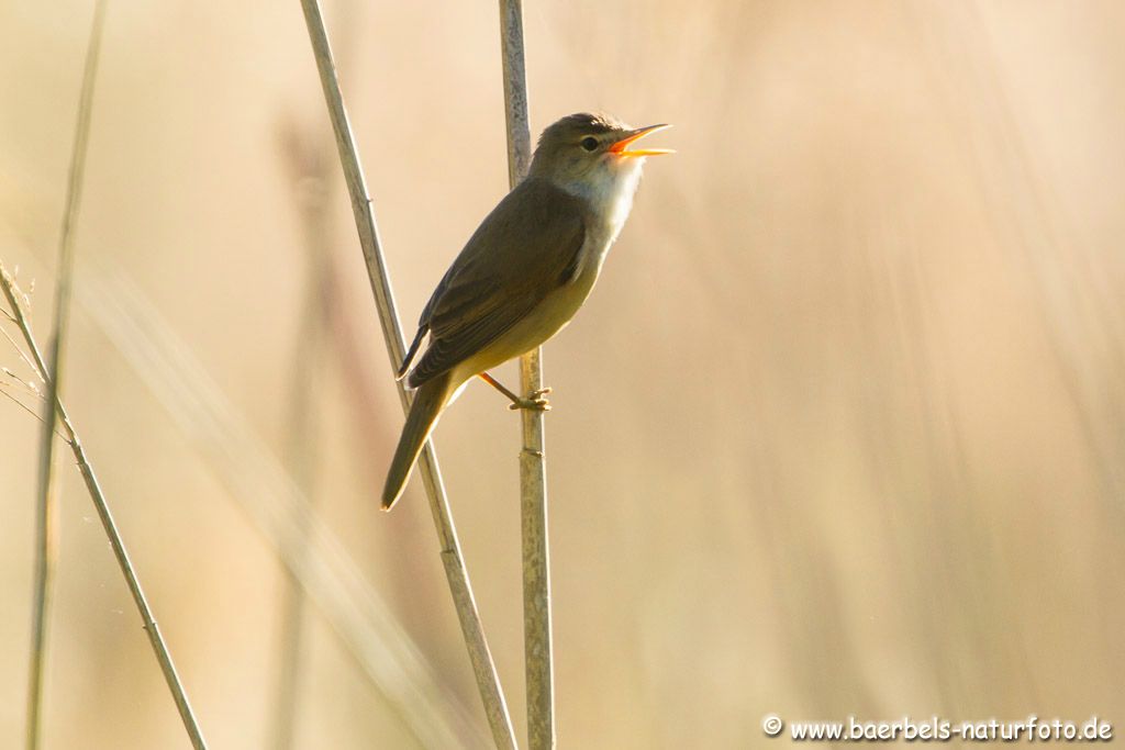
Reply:
<svg viewBox="0 0 1125 750"><path fill-rule="evenodd" d="M0 265L0 290L3 291L3 296L7 298L8 304L12 308L12 314L16 318L17 325L19 326L20 333L24 334L24 341L27 343L27 349L30 352L32 358L35 360L35 367L38 374L40 377L46 377L46 362L43 359L43 354L39 352L39 346L35 341L35 336L32 334L30 322L24 314L24 308L19 301L19 298L22 295L16 288L15 281L2 265ZM63 406L62 401L57 399L55 400L55 407L58 413L58 421L62 423L66 439L70 441L74 459L78 461L79 470L82 473L82 480L86 482L87 490L90 493L90 499L93 500L93 506L98 512L98 517L101 519L101 525L106 530L106 536L109 537L109 545L114 550L114 557L117 558L117 563L122 569L122 575L125 577L126 585L129 587L129 593L133 595L133 600L136 603L137 611L141 613L141 620L144 623L145 632L148 634L148 642L152 644L152 649L156 654L156 661L160 663L161 672L163 672L164 680L168 683L168 687L172 693L172 698L176 701L176 707L180 712L180 719L183 721L183 726L188 731L191 744L196 748L196 750L206 750L207 744L204 742L202 732L199 730L199 724L196 721L195 713L191 711L191 704L188 702L188 696L183 690L182 683L180 683L180 677L176 672L176 665L172 663L172 657L168 651L168 644L164 642L164 636L160 632L156 621L153 618L152 609L148 607L148 602L144 595L144 589L141 588L141 581L137 579L136 571L133 569L133 561L129 559L128 551L125 549L125 542L122 540L122 535L117 530L117 523L114 521L114 516L109 512L109 504L106 500L105 494L101 491L101 485L93 471L93 466L90 464L90 461L86 455L86 449L82 446L82 441L79 439L78 432L74 430L74 426L70 421L70 415L66 413L66 408Z"/></svg>

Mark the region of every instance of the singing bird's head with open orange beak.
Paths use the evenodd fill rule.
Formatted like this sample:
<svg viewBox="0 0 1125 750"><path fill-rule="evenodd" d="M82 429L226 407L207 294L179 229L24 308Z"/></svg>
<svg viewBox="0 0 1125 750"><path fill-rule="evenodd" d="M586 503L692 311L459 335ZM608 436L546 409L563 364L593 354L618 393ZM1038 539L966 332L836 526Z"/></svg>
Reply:
<svg viewBox="0 0 1125 750"><path fill-rule="evenodd" d="M631 128L608 115L568 115L539 137L531 174L595 202L612 201L622 191L631 198L645 157L674 153L638 148L636 143L666 127Z"/></svg>

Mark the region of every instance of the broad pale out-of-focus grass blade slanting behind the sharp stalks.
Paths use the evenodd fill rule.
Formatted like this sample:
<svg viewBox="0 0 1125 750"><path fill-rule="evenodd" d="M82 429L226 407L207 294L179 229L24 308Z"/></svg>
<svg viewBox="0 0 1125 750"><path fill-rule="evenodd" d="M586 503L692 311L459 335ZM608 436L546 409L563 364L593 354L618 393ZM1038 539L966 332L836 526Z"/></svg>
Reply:
<svg viewBox="0 0 1125 750"><path fill-rule="evenodd" d="M160 313L119 273L89 277L79 295L82 308L216 472L417 744L487 747L299 486ZM303 549L295 554L298 541Z"/></svg>

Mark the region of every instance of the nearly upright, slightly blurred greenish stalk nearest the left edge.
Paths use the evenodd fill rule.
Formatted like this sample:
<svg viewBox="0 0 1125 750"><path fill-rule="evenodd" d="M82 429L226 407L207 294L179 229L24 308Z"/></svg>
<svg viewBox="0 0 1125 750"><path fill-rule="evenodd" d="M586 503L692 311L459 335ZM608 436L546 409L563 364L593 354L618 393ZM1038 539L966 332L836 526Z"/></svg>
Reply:
<svg viewBox="0 0 1125 750"><path fill-rule="evenodd" d="M74 226L82 201L82 178L86 172L86 152L90 136L90 111L93 105L93 82L97 78L98 52L101 48L101 29L106 18L105 0L97 0L90 25L82 87L78 102L78 124L74 127L74 146L71 151L70 179L63 208L63 223L58 236L58 289L55 292L54 332L51 337L50 360L43 368L47 397L43 403L43 432L39 443L38 496L35 507L35 582L32 591L32 653L27 680L28 750L37 750L42 741L43 681L47 662L47 621L51 616L52 582L55 563L55 506L57 484L55 470L55 401L62 388L63 355L70 323L70 299L74 275Z"/></svg>

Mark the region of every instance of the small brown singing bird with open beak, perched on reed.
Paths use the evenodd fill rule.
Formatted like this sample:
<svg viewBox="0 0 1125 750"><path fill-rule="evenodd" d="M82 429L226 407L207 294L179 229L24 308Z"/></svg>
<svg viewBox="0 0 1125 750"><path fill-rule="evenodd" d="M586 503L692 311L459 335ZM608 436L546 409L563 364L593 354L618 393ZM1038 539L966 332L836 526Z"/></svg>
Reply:
<svg viewBox="0 0 1125 750"><path fill-rule="evenodd" d="M543 130L528 177L485 217L422 310L398 371L416 391L384 510L402 495L442 410L474 377L503 392L511 408L550 408L543 398L550 389L521 398L487 371L557 334L586 301L632 208L645 157L673 153L634 144L666 127L631 128L582 112ZM426 334L429 345L410 370Z"/></svg>

